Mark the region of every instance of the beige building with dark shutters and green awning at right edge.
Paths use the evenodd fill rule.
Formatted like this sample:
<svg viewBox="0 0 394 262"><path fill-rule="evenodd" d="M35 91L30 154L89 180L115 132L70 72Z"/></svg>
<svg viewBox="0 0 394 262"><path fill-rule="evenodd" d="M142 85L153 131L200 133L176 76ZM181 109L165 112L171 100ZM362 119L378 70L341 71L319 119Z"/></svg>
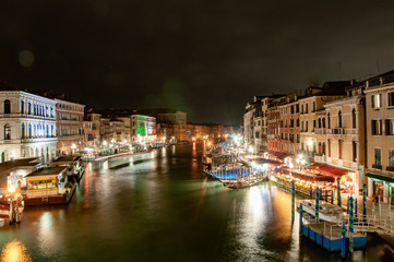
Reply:
<svg viewBox="0 0 394 262"><path fill-rule="evenodd" d="M369 195L394 203L394 71L366 82Z"/></svg>

